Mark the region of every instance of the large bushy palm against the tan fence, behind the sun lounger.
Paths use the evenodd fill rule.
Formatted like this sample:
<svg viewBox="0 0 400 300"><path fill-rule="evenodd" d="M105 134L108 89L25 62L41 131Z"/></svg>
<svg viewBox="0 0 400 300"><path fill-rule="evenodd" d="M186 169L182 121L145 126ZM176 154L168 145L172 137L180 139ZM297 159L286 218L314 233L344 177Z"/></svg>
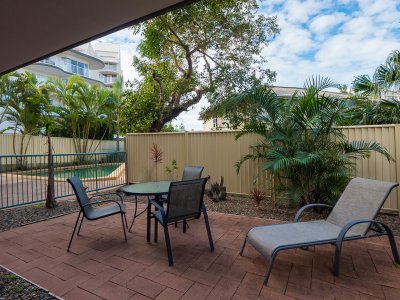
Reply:
<svg viewBox="0 0 400 300"><path fill-rule="evenodd" d="M257 134L261 140L236 163L237 171L247 160L262 159L263 170L275 176L278 187L284 187L291 205L332 204L347 184L355 159L376 151L391 160L378 143L348 141L335 127L346 118L346 100L323 92L335 86L328 78L312 77L303 92L290 98L262 87L227 101L228 111L243 102L257 107L237 138Z"/></svg>

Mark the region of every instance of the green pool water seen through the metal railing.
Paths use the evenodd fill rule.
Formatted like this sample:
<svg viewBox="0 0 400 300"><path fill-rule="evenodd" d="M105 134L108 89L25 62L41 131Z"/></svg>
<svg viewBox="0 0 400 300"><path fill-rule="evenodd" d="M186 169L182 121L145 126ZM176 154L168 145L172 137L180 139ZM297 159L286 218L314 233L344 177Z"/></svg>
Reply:
<svg viewBox="0 0 400 300"><path fill-rule="evenodd" d="M54 177L56 178L70 178L72 176L78 176L79 178L99 178L106 177L114 172L120 164L110 164L110 165L98 165L97 167L63 167L54 169ZM97 175L96 175L97 174ZM47 170L41 170L37 172L36 176L47 176Z"/></svg>

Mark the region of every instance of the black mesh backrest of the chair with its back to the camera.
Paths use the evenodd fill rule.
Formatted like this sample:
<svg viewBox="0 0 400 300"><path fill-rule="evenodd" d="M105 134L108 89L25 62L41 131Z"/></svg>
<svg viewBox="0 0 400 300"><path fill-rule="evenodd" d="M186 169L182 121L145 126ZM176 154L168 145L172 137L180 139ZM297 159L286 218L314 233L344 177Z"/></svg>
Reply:
<svg viewBox="0 0 400 300"><path fill-rule="evenodd" d="M207 178L172 182L167 199L167 220L198 218Z"/></svg>

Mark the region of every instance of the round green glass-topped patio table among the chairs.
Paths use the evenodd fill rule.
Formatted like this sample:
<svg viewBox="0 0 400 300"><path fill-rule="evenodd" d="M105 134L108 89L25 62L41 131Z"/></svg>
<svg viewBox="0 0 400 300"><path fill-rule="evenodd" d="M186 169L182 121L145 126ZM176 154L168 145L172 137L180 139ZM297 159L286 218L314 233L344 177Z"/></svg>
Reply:
<svg viewBox="0 0 400 300"><path fill-rule="evenodd" d="M166 195L169 192L169 186L172 181L163 180L163 181L152 181L152 182L142 182L142 183L134 183L123 186L119 189L120 192L123 192L126 195L132 196L147 196L147 242L150 242L150 221L152 218L151 213L151 204L150 204L150 196L155 197L155 201L160 200L162 195ZM137 205L137 201L136 201ZM141 213L140 213L141 214ZM140 215L139 214L139 215ZM135 220L135 216L133 221ZM131 224L131 228L133 225L133 221ZM130 231L130 228L129 228Z"/></svg>

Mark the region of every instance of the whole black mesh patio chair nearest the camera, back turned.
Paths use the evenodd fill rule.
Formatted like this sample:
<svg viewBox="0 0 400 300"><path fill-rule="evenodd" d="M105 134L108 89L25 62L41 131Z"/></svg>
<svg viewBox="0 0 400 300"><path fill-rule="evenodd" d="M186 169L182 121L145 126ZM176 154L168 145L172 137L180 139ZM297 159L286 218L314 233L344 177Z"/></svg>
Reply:
<svg viewBox="0 0 400 300"><path fill-rule="evenodd" d="M214 243L212 240L210 224L208 222L207 210L203 202L206 181L207 178L200 178L195 180L172 182L166 201L166 209L164 209L160 203L150 200L150 203L155 207L153 213L155 229L154 240L157 242L157 224L160 223L164 229L168 263L170 266L174 264L174 261L172 258L168 225L174 224L176 221L198 219L203 213L210 250L211 252L214 251Z"/></svg>

